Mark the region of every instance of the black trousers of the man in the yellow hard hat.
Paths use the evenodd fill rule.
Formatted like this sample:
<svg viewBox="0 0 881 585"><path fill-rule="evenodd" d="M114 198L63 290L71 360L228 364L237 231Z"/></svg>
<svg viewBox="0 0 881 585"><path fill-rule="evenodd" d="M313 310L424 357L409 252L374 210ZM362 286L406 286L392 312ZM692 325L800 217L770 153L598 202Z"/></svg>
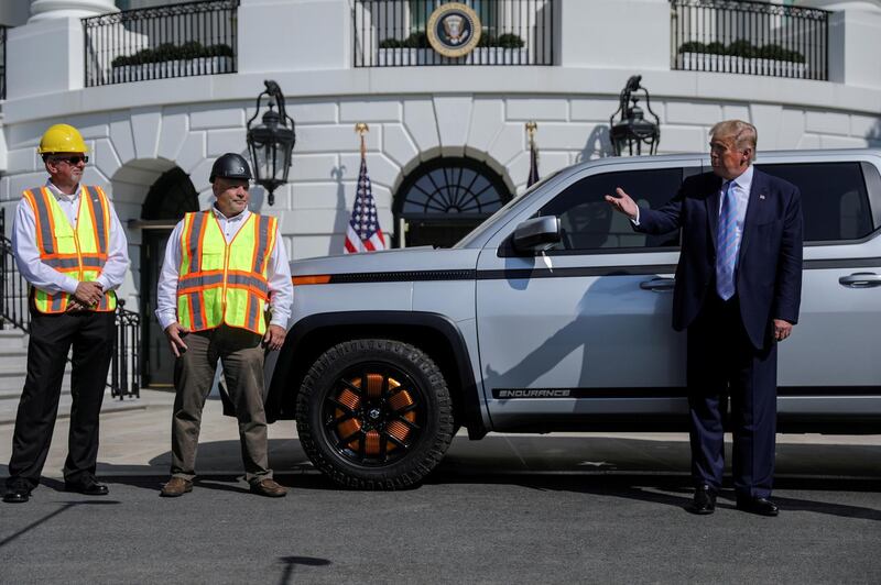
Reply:
<svg viewBox="0 0 881 585"><path fill-rule="evenodd" d="M98 416L113 350L113 333L112 312L44 314L31 310L28 376L12 434L8 485L17 477L26 479L31 487L40 483L72 346L73 405L64 477L76 483L95 474Z"/></svg>

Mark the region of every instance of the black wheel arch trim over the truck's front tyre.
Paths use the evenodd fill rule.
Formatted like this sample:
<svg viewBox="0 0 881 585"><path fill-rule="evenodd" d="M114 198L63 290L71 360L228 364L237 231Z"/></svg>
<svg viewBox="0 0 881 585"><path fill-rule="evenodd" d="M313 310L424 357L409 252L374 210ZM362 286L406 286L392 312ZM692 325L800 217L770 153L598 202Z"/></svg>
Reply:
<svg viewBox="0 0 881 585"><path fill-rule="evenodd" d="M341 311L311 314L287 332L267 395L267 420L294 419L300 386L328 347L354 339L394 339L415 345L447 378L454 417L469 439L487 433L471 360L458 327L447 317L411 311Z"/></svg>

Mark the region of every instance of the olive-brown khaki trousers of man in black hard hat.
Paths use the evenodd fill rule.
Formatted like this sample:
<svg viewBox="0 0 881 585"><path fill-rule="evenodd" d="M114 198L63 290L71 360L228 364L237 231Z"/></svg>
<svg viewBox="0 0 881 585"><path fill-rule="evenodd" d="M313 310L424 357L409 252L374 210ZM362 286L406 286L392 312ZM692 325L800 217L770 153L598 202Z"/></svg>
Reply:
<svg viewBox="0 0 881 585"><path fill-rule="evenodd" d="M186 351L174 363L172 476L196 476L202 409L211 390L217 361L239 421L244 478L250 484L272 477L269 468L267 415L263 410L262 338L244 329L220 325L189 333Z"/></svg>

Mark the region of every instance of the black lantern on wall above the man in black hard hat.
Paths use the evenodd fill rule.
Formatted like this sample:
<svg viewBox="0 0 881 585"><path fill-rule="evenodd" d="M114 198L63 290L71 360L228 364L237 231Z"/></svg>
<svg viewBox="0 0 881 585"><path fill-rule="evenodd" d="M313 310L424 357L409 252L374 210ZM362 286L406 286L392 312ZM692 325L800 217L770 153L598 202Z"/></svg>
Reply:
<svg viewBox="0 0 881 585"><path fill-rule="evenodd" d="M267 79L263 84L267 89L257 97L257 110L248 120L247 141L254 169L254 183L269 191L269 205L273 205L275 202L273 191L280 185L287 183L296 133L294 120L284 110L284 95L279 84L271 79ZM251 128L251 122L260 113L260 100L263 96L269 98L269 110L263 114L262 122ZM278 108L278 111L273 108Z"/></svg>

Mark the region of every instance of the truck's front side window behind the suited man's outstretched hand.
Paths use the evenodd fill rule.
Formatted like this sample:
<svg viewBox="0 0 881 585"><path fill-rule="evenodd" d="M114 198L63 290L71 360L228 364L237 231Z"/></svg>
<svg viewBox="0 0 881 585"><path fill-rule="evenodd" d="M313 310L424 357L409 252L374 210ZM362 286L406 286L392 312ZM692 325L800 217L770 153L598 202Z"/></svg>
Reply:
<svg viewBox="0 0 881 585"><path fill-rule="evenodd" d="M573 184L539 212L559 217L562 241L548 252L678 246L678 231L663 235L638 233L603 196L613 195L621 187L640 207L654 209L676 195L682 177L682 168L659 168L605 173Z"/></svg>

